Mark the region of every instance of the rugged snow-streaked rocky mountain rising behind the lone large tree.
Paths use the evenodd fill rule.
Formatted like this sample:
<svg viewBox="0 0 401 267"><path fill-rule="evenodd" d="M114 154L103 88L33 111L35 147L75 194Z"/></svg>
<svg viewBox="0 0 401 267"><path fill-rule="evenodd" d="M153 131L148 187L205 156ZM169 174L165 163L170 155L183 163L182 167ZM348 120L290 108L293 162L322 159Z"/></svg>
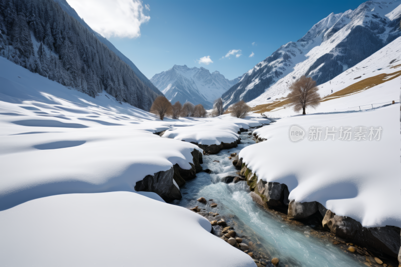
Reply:
<svg viewBox="0 0 401 267"><path fill-rule="evenodd" d="M330 14L297 42L281 46L223 94L225 107L239 101L279 98L302 75L325 83L401 36L401 0L365 2Z"/></svg>

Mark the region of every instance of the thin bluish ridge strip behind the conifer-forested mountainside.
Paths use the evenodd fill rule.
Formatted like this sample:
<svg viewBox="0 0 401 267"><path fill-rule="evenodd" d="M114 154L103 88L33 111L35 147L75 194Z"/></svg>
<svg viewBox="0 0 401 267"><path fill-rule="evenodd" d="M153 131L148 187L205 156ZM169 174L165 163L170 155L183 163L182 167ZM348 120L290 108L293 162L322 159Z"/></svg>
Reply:
<svg viewBox="0 0 401 267"><path fill-rule="evenodd" d="M77 12L71 8L71 6L67 3L66 0L54 0L56 3L60 5L60 7L68 13L71 17L75 18L80 24L82 24L86 29L91 31L97 39L99 39L100 42L105 44L111 51L113 51L122 61L124 61L131 69L134 71L136 76L139 78L139 80L142 81L147 87L149 87L153 92L155 92L158 95L161 95L161 92L149 81L148 78L146 78L143 73L135 66L135 64L132 63L126 56L124 56L117 48L113 46L112 43L110 43L106 38L101 36L100 34L96 33L93 31L89 25L86 24L86 22L79 17Z"/></svg>

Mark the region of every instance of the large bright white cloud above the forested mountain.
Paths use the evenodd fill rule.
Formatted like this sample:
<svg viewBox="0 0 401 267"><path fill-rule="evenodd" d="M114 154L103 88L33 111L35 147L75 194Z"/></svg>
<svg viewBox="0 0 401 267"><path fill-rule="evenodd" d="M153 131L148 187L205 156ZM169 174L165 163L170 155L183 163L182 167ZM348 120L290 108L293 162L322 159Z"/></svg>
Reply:
<svg viewBox="0 0 401 267"><path fill-rule="evenodd" d="M150 20L140 0L67 0L85 22L102 36L137 38L140 26ZM149 5L145 5L150 10Z"/></svg>

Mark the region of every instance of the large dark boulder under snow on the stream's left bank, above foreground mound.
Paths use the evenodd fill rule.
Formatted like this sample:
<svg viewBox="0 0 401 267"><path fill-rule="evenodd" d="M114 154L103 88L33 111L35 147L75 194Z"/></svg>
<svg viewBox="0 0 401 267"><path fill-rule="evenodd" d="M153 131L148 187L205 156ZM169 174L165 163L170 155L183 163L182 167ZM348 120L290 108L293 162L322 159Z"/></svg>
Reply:
<svg viewBox="0 0 401 267"><path fill-rule="evenodd" d="M181 192L174 185L173 176L174 168L170 168L166 171L159 171L153 175L146 175L145 178L136 182L134 189L138 192L154 192L166 202L174 199L181 199Z"/></svg>

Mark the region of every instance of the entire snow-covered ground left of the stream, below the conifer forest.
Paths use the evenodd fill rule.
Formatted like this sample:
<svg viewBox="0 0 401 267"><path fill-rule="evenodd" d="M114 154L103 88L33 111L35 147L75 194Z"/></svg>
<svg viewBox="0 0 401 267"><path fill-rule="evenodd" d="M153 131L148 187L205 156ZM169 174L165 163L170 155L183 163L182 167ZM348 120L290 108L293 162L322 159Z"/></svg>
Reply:
<svg viewBox="0 0 401 267"><path fill-rule="evenodd" d="M134 190L173 164L190 168L197 146L152 133L195 120L160 121L4 58L0 85L2 265L255 266L206 218Z"/></svg>

